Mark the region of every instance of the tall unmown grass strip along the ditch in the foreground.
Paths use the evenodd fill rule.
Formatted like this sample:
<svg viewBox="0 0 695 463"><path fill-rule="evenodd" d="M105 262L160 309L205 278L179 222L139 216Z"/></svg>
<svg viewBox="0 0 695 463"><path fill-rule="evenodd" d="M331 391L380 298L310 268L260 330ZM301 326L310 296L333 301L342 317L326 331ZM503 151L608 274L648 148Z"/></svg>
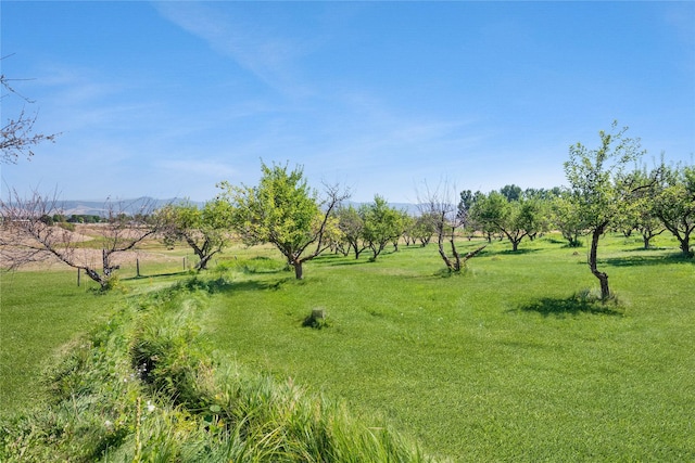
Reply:
<svg viewBox="0 0 695 463"><path fill-rule="evenodd" d="M195 320L225 280L135 298L67 350L50 400L0 424L0 461L427 461L380 421L216 360Z"/></svg>

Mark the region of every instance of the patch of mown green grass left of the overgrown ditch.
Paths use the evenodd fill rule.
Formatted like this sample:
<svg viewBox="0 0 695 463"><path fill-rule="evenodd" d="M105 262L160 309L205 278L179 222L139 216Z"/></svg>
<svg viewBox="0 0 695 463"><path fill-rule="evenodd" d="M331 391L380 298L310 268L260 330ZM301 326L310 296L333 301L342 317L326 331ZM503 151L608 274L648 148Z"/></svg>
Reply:
<svg viewBox="0 0 695 463"><path fill-rule="evenodd" d="M121 296L96 295L76 272L0 273L0 415L45 396L38 377L62 345L110 312Z"/></svg>

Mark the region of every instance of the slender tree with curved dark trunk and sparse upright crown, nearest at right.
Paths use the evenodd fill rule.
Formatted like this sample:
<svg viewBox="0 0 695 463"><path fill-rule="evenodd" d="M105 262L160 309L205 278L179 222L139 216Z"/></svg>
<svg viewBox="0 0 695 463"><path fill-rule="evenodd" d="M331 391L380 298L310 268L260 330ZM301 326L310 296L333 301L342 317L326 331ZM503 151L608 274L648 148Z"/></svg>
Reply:
<svg viewBox="0 0 695 463"><path fill-rule="evenodd" d="M601 297L610 297L608 274L598 270L598 240L620 214L621 204L631 201L634 193L624 181L623 171L629 163L643 155L640 140L626 136L628 127L599 131L601 144L590 150L581 143L569 149L565 175L570 184L570 201L578 208L582 228L591 234L589 268L601 284Z"/></svg>

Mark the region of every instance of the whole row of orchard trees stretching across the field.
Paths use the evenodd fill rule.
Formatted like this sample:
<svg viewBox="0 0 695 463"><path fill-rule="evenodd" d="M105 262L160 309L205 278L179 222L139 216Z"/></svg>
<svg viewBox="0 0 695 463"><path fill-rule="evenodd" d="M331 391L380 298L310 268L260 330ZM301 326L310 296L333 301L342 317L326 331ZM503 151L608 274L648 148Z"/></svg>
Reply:
<svg viewBox="0 0 695 463"><path fill-rule="evenodd" d="M248 245L270 243L301 279L303 263L327 249L355 258L368 249L376 260L389 245L397 250L402 240L427 245L435 237L446 268L457 272L484 248L462 256L456 248L462 235L507 239L517 250L523 239L559 230L570 246L580 245L580 236L591 236L589 266L602 296L608 298L608 276L597 268L598 242L606 231L637 230L648 246L654 236L669 230L682 253L693 255L695 167L662 162L652 170L630 169L643 153L639 140L626 132L627 128L617 129L614 124L611 131L599 132L597 149L572 145L565 163L569 188L522 191L513 184L485 194L456 193L444 184L418 194L416 216L391 207L379 195L369 204L345 204L350 192L339 185L324 185L321 195L309 188L301 167L290 170L287 165L262 163L257 185L223 182L218 197L203 207L184 203L154 210L146 205L135 215L108 208L100 228L104 234L100 269L79 260L80 246L68 230L40 220L61 217L54 200L38 194L23 200L14 194L0 204L5 229L0 248L11 267L53 256L105 286L114 269L112 256L152 236L169 246L186 243L199 257L198 270L205 269L232 237Z"/></svg>

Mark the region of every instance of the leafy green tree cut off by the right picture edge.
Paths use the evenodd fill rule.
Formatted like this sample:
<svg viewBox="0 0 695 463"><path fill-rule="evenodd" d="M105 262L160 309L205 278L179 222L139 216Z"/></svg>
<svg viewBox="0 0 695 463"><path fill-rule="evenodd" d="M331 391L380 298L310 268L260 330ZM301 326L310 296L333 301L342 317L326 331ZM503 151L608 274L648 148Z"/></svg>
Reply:
<svg viewBox="0 0 695 463"><path fill-rule="evenodd" d="M684 256L693 257L690 239L695 231L695 166L661 165L662 183L654 200L655 214L680 243Z"/></svg>

